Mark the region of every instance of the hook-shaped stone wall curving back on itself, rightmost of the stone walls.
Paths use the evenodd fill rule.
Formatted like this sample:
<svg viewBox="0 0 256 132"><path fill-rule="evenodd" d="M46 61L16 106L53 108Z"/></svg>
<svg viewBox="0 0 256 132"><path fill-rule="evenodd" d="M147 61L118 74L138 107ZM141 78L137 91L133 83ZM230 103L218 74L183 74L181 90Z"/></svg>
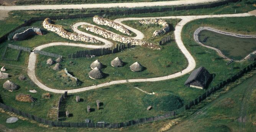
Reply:
<svg viewBox="0 0 256 132"><path fill-rule="evenodd" d="M139 21L140 24L159 24L162 25L162 29L153 32L153 36L158 36L160 34L166 34L170 31L169 24L163 19L148 19Z"/></svg>

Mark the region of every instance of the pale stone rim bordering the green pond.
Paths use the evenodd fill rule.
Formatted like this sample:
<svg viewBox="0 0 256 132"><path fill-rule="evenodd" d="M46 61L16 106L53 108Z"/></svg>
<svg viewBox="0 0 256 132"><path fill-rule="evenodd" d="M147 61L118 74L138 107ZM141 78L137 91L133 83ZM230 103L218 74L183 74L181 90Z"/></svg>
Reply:
<svg viewBox="0 0 256 132"><path fill-rule="evenodd" d="M256 38L256 35L243 35L243 34L235 34L235 33L232 33L232 32L225 32L225 31L220 31L220 30L217 30L217 29L213 29L211 27L199 27L197 30L195 30L194 32L194 40L199 43L200 45L202 45L203 47L206 47L206 48L210 48L210 49L213 49L215 50L220 56L222 56L223 58L225 58L226 60L228 61L231 61L232 59L226 57L221 50L219 50L218 48L214 48L214 47L211 47L211 46L207 46L207 45L204 45L203 43L201 43L199 41L199 32L203 31L203 30L208 30L208 31L213 31L213 32L217 32L217 33L220 33L220 34L224 34L224 35L230 35L230 36L234 36L234 37L241 37L241 38ZM250 54L256 54L256 50L252 53L249 53L249 55L245 56L245 58L243 58L242 60L233 60L235 62L241 62L241 61L245 61L246 59L248 59L250 57Z"/></svg>

